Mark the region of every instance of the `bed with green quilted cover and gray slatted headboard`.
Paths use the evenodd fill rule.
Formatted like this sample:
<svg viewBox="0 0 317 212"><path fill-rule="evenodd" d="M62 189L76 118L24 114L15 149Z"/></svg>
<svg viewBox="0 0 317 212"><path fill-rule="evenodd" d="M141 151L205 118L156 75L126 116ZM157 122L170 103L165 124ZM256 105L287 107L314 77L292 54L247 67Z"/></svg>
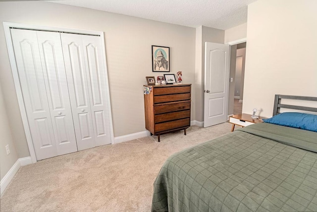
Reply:
<svg viewBox="0 0 317 212"><path fill-rule="evenodd" d="M302 113L317 112L317 106L281 104L282 99L317 102L275 95L274 116L267 122L172 155L154 182L152 211L317 211L317 115ZM290 117L293 112L283 108L301 110L305 117ZM283 115L291 125L302 125L272 123Z"/></svg>

